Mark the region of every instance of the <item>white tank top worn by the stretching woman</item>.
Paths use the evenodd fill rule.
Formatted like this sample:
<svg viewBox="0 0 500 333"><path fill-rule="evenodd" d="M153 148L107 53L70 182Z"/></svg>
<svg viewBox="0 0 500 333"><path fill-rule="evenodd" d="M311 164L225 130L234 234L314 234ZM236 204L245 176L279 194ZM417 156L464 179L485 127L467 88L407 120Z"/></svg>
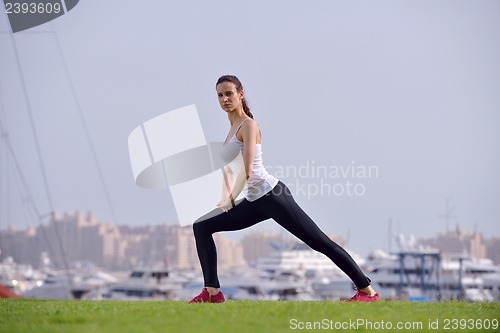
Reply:
<svg viewBox="0 0 500 333"><path fill-rule="evenodd" d="M245 120L247 119L248 118ZM238 140L236 133L238 133L245 120L241 122L234 132L234 135L226 144L222 146L222 149L220 150L220 158L231 167L233 173L235 173L235 177L237 176L237 172L239 172L241 167L243 167L243 142ZM264 168L264 165L262 164L262 144L257 143L255 158L252 166L252 174L250 175L244 189L245 198L248 201L255 201L259 199L271 191L276 184L278 184L278 181L279 180L276 177L269 174Z"/></svg>

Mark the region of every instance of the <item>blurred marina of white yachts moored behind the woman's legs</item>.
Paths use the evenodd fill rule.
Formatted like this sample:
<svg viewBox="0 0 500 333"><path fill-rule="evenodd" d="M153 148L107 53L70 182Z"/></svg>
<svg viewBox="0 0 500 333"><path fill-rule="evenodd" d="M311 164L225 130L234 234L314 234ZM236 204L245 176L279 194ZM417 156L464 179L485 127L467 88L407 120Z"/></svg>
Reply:
<svg viewBox="0 0 500 333"><path fill-rule="evenodd" d="M500 267L489 259L443 257L437 250L373 251L353 255L386 300L499 301ZM1 284L27 298L82 300L188 300L203 287L195 270L175 270L164 263L130 272L105 272L92 265L69 271L35 269L12 258L0 264ZM275 246L253 267L221 271L228 299L345 300L351 280L326 256L304 244Z"/></svg>

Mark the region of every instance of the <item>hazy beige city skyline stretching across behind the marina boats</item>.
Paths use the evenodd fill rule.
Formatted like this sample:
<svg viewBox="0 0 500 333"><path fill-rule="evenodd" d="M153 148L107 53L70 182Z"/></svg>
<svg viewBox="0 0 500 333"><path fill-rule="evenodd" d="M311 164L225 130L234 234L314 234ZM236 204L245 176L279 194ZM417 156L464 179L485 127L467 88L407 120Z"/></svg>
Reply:
<svg viewBox="0 0 500 333"><path fill-rule="evenodd" d="M254 265L257 259L267 257L278 247L302 244L292 235L265 230L249 229L239 241L227 235L224 232L214 235L221 269ZM329 237L346 246L341 236ZM500 237L484 238L480 230L457 228L419 239L405 235L394 235L394 238L387 248L373 249L368 255L349 247L346 250L361 259L379 255L380 250L390 254L437 249L444 257L488 258L500 264ZM75 262L91 262L112 269L163 262L174 269L197 270L198 256L192 240L191 228L178 225L114 225L100 221L92 211L54 212L50 220L38 226L0 229L0 258L12 256L19 263L36 267L40 255L45 253L44 258L50 258L59 269L69 269Z"/></svg>

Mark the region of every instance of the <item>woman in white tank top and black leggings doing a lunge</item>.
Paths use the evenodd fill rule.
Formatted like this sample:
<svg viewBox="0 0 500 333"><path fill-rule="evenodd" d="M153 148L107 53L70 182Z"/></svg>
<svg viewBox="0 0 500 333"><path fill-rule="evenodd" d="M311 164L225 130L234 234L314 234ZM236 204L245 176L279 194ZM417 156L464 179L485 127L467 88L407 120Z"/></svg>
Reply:
<svg viewBox="0 0 500 333"><path fill-rule="evenodd" d="M225 183L221 201L217 204L223 213L193 224L205 287L190 303L224 302L224 295L219 291L213 233L241 230L269 218L274 219L312 249L328 256L351 278L357 287L351 301L378 301L379 295L370 286L370 279L363 274L351 256L318 228L297 205L288 187L264 169L261 131L253 120L238 78L233 75L222 76L217 81L216 90L220 106L231 123L231 129L221 150L221 158L230 163L241 152L243 166L234 185L228 180L234 179L234 173L227 166L224 168ZM245 199L235 205L234 200L245 188Z"/></svg>

